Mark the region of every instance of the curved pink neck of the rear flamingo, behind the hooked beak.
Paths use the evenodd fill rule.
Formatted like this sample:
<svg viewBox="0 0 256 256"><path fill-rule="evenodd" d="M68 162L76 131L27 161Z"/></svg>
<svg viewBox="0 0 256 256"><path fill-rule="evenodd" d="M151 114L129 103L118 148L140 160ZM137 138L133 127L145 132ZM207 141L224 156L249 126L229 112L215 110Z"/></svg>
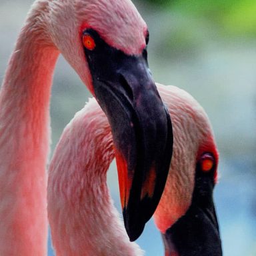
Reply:
<svg viewBox="0 0 256 256"><path fill-rule="evenodd" d="M66 127L49 167L48 213L56 255L142 255L109 195L113 160L107 117L95 100Z"/></svg>

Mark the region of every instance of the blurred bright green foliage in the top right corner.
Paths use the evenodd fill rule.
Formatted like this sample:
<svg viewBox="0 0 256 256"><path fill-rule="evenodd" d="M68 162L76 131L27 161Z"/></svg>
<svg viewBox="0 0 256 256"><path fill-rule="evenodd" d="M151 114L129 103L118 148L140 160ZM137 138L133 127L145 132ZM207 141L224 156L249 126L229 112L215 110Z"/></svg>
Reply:
<svg viewBox="0 0 256 256"><path fill-rule="evenodd" d="M181 15L205 19L229 36L256 37L256 0L143 0Z"/></svg>

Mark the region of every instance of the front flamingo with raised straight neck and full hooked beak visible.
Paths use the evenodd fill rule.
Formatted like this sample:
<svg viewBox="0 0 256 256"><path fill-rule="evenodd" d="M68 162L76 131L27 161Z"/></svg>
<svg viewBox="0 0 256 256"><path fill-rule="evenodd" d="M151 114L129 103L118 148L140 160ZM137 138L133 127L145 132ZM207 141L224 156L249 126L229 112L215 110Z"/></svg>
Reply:
<svg viewBox="0 0 256 256"><path fill-rule="evenodd" d="M46 255L49 99L60 53L109 120L125 228L142 233L171 161L171 119L147 65L147 25L129 0L37 0L0 91L0 255ZM153 182L151 182L153 181Z"/></svg>

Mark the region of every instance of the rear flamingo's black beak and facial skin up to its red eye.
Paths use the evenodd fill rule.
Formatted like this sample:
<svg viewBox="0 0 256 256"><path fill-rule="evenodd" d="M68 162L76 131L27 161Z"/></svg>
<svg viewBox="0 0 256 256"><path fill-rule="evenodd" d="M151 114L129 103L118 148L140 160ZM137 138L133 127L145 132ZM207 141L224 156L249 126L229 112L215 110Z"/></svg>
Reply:
<svg viewBox="0 0 256 256"><path fill-rule="evenodd" d="M202 164L205 162L205 165ZM216 161L203 154L195 170L195 188L188 211L165 234L165 256L221 256L221 238L213 203Z"/></svg>

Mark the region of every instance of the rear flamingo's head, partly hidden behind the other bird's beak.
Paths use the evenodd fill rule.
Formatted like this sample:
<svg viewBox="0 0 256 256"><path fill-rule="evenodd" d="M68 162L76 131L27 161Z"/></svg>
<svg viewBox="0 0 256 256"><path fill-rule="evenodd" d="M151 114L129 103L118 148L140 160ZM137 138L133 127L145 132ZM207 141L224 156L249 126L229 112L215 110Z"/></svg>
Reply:
<svg viewBox="0 0 256 256"><path fill-rule="evenodd" d="M154 214L165 255L220 256L213 203L219 154L211 124L199 103L181 89L171 87L165 102L173 123L173 158Z"/></svg>

